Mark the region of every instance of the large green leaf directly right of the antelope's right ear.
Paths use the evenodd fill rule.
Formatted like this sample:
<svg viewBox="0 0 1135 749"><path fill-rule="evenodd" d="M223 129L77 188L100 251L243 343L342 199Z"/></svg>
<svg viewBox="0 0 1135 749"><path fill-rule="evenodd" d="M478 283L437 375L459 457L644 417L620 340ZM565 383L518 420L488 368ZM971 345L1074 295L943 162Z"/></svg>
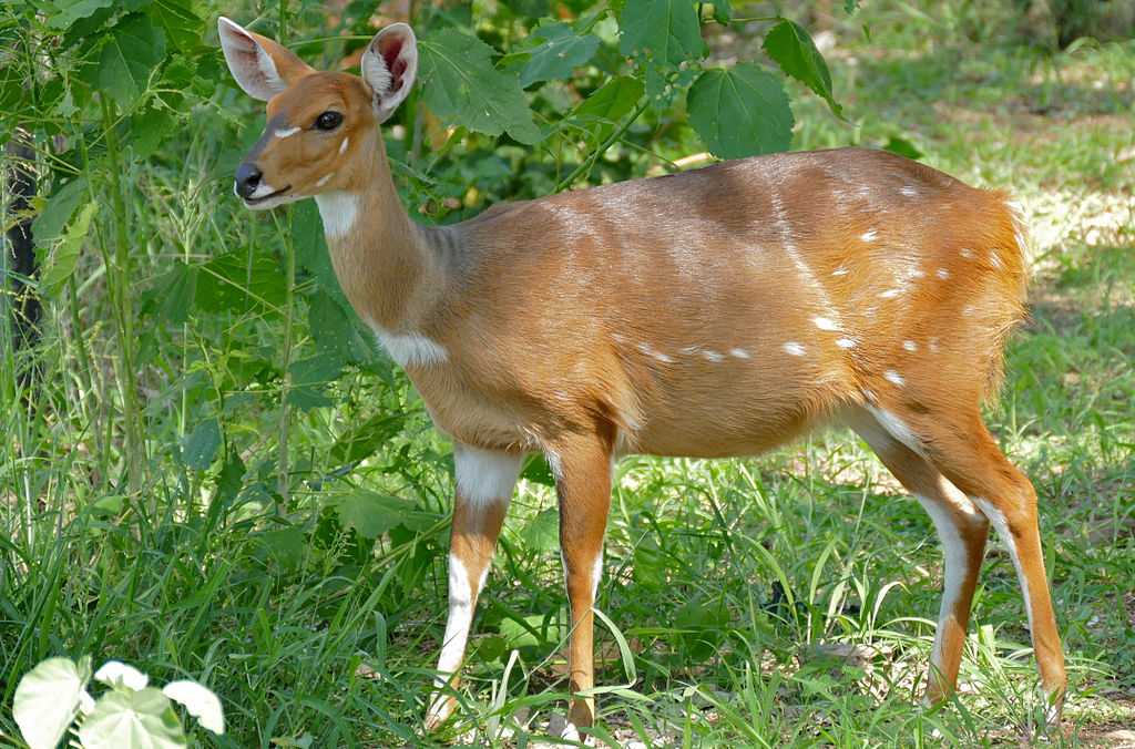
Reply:
<svg viewBox="0 0 1135 749"><path fill-rule="evenodd" d="M497 136L507 131L533 144L540 131L515 71L497 70L493 48L456 28L445 28L418 42L418 75L426 103L442 119Z"/></svg>

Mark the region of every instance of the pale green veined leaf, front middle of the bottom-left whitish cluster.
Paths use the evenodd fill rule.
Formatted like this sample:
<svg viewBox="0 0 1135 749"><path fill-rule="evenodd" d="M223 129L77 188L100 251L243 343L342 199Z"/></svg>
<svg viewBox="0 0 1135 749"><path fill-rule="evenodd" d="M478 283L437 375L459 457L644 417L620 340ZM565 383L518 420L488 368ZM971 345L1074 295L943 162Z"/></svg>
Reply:
<svg viewBox="0 0 1135 749"><path fill-rule="evenodd" d="M180 749L185 732L169 699L153 687L109 691L78 727L85 749Z"/></svg>

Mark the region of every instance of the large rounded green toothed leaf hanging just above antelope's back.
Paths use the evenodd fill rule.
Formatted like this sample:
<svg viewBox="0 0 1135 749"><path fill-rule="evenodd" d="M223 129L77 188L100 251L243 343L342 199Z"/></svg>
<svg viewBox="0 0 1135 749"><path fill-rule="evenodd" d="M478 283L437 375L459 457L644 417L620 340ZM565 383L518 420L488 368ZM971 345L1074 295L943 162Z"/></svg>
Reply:
<svg viewBox="0 0 1135 749"><path fill-rule="evenodd" d="M756 62L706 70L686 101L690 124L722 159L787 151L792 144L792 110L781 82Z"/></svg>

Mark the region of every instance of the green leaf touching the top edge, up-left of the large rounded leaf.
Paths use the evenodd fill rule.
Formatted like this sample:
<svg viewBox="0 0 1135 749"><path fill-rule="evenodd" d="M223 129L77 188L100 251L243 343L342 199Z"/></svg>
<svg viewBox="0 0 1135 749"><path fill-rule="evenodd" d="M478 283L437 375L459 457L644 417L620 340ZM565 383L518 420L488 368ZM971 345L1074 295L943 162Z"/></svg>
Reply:
<svg viewBox="0 0 1135 749"><path fill-rule="evenodd" d="M671 70L706 53L693 0L627 0L619 14L619 51Z"/></svg>

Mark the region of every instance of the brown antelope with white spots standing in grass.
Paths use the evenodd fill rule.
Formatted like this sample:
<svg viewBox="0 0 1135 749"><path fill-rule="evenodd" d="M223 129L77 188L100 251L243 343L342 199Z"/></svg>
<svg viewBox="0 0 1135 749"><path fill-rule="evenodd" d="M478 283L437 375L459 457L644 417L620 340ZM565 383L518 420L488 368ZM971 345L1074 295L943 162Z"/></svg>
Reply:
<svg viewBox="0 0 1135 749"><path fill-rule="evenodd" d="M594 687L612 465L627 453L753 455L855 430L925 507L945 557L926 698L956 687L992 523L1020 578L1050 716L1066 684L1036 494L980 404L998 387L1028 270L1019 210L883 151L741 159L420 226L379 127L414 83L394 24L361 77L318 73L221 18L268 126L236 169L245 205L314 197L343 291L453 439L449 614L426 724L454 710L477 597L526 454L556 479L570 689ZM591 725L574 697L568 735Z"/></svg>

